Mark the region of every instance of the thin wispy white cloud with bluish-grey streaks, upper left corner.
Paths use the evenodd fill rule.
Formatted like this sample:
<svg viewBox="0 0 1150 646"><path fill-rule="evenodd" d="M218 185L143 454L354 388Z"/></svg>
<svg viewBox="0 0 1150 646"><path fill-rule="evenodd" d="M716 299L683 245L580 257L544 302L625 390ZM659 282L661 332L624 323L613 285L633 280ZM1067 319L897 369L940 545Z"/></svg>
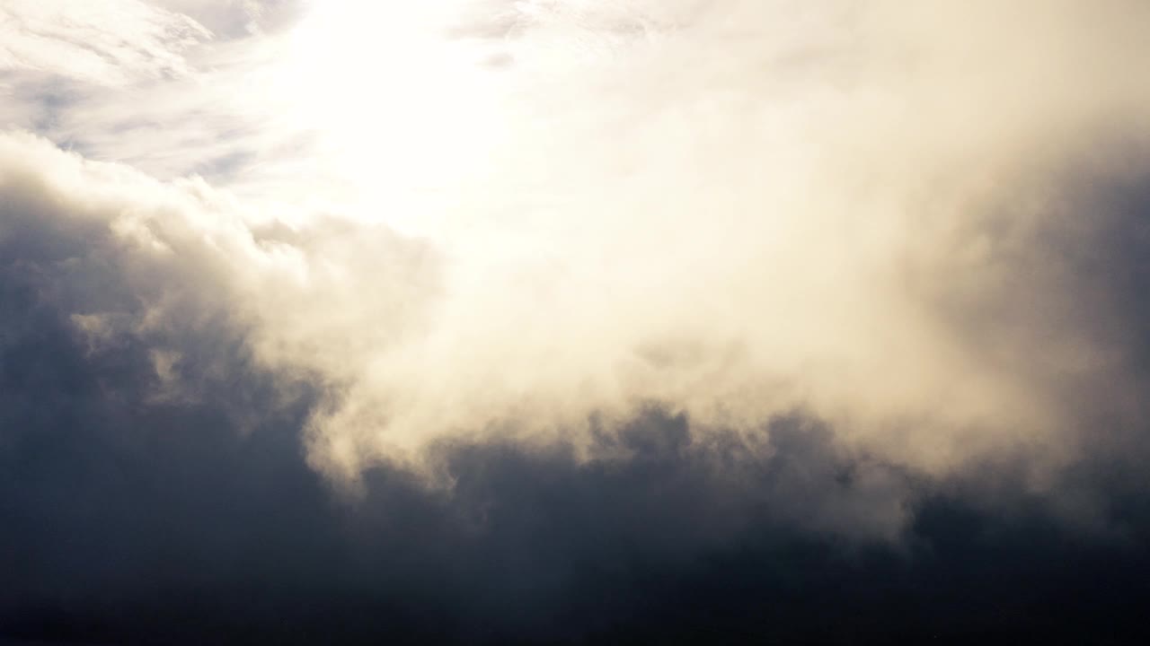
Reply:
<svg viewBox="0 0 1150 646"><path fill-rule="evenodd" d="M0 122L159 178L248 186L251 203L269 178L283 194L285 174L310 172L319 187L307 130L268 126L269 113L285 111L271 61L299 10L255 1L9 3L0 86L12 100Z"/></svg>

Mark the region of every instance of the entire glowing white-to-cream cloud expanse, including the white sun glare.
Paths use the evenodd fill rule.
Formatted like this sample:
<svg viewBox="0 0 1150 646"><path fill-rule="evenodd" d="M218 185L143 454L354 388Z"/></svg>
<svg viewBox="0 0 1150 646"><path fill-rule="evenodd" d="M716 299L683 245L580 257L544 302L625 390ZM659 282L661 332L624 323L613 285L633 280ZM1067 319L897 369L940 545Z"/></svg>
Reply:
<svg viewBox="0 0 1150 646"><path fill-rule="evenodd" d="M210 298L262 362L324 384L310 449L334 475L652 401L700 432L807 408L936 472L1057 462L1068 393L1132 400L1124 339L1074 316L1087 297L1041 240L1083 217L1063 178L1092 141L1150 134L1150 90L1119 71L1150 60L1142 3L343 1L187 59L194 23L124 7L156 61L61 63L92 94L46 133L159 176L215 163L217 186L22 136L3 164L105 205L85 208L141 280L197 275L151 287L147 324ZM30 20L6 28L39 52L21 66L79 47Z"/></svg>

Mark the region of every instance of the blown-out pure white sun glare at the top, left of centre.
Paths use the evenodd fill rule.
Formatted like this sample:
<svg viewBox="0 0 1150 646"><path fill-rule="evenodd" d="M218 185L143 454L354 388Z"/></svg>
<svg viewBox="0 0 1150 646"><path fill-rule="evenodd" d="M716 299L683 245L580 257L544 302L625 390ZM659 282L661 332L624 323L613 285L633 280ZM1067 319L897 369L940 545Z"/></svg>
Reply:
<svg viewBox="0 0 1150 646"><path fill-rule="evenodd" d="M458 2L313 2L278 71L286 103L316 133L348 210L434 234L452 189L499 129L499 72L448 36Z"/></svg>

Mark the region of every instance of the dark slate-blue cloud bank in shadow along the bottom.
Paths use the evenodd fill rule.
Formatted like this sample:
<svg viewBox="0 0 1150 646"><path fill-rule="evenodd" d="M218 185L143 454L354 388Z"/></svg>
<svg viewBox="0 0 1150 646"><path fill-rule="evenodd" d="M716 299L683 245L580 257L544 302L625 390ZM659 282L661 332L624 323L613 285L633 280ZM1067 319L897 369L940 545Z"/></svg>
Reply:
<svg viewBox="0 0 1150 646"><path fill-rule="evenodd" d="M651 410L604 434L618 457L595 462L562 444L440 444L450 491L376 464L348 507L299 449L317 392L284 406L281 377L222 324L179 338L178 370L201 397L153 398L158 340L124 333L93 348L72 314L90 290L66 287L82 276L115 300L117 268L85 255L108 240L44 231L57 223L37 215L0 246L5 257L24 249L0 272L7 637L838 643L1141 630L1140 543L1068 528L1002 464L931 483L844 453L802 416L747 445L695 441L685 418ZM30 246L29 229L52 244ZM986 502L988 480L1021 499L1017 512ZM1143 540L1144 497L1094 487L1125 507L1112 520L1135 530L1128 540Z"/></svg>

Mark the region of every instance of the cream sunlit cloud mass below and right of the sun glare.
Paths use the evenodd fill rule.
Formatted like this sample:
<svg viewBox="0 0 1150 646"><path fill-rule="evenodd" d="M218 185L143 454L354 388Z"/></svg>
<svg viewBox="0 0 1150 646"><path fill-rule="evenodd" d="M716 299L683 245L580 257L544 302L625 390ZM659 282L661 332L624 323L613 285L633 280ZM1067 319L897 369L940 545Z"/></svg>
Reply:
<svg viewBox="0 0 1150 646"><path fill-rule="evenodd" d="M356 7L321 13L316 33ZM851 451L943 476L1015 451L1056 469L1091 420L1141 415L1130 314L1079 267L1101 261L1082 240L1128 217L1092 186L1141 177L1145 90L1095 74L1144 54L1124 26L1140 9L1058 5L991 28L981 6L825 2L785 30L766 21L783 9L759 3L470 10L414 24L518 25L485 38L515 69L476 72L511 75L482 82L507 84L492 85L504 109L461 118L498 137L451 144L463 161L440 174L424 160L453 157L450 141L420 136L447 122L389 123L397 108L365 131L373 156L351 157L398 195L425 172L446 201L401 199L382 218L285 207L275 224L267 195L158 183L20 136L8 163L110 229L148 303L133 325L220 312L261 366L322 384L309 455L350 483L452 437L595 457L589 420L615 428L651 402L702 436L808 410ZM1034 25L1025 51L1005 38L1020 21ZM988 26L984 47L954 25ZM568 28L575 49L552 33ZM577 54L600 37L622 40ZM1074 78L1091 79L1088 99ZM413 146L386 149L377 137L394 128Z"/></svg>

